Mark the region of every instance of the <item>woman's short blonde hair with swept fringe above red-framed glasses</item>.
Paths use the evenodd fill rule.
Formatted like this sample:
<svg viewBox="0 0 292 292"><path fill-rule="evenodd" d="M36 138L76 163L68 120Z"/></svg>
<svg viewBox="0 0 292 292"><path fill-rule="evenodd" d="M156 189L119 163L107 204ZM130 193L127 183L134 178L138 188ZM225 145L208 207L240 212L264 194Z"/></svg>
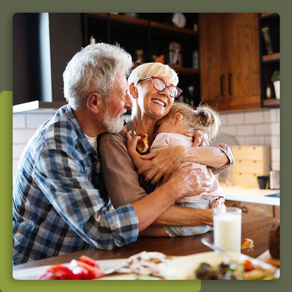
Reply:
<svg viewBox="0 0 292 292"><path fill-rule="evenodd" d="M179 83L179 77L172 68L162 63L152 62L136 67L128 77L128 84L130 85L131 83L134 83L134 85L137 86L137 83L140 79L149 76L168 77L169 82L174 86L177 86Z"/></svg>

